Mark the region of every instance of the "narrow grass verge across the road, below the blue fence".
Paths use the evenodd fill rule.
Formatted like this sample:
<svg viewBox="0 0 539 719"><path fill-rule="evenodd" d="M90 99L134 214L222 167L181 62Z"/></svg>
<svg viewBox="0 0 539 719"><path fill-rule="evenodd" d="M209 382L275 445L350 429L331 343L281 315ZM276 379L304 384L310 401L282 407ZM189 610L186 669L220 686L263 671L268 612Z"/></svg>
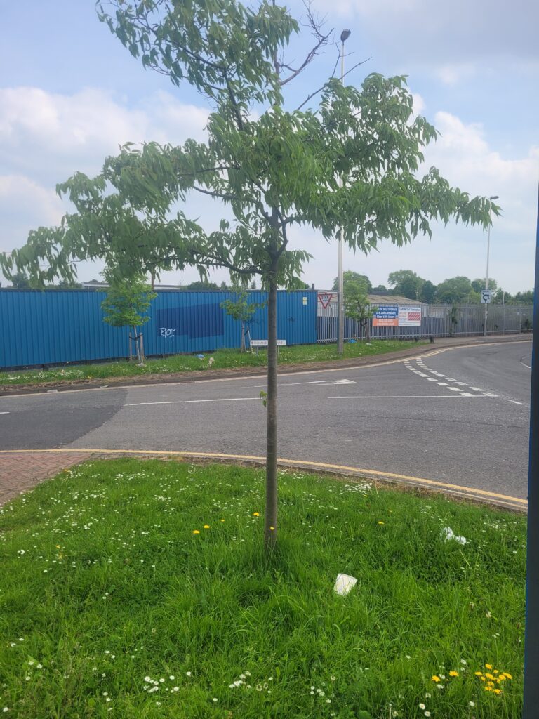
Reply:
<svg viewBox="0 0 539 719"><path fill-rule="evenodd" d="M410 342L400 339L375 339L370 344L365 342L346 342L344 357L369 357L373 354L397 352L400 349L418 347L426 342ZM213 362L209 362L213 357ZM324 362L339 359L336 344L298 344L294 347L282 347L279 352L280 365L293 365L298 362ZM134 377L137 375L157 375L161 372L193 372L193 370L223 370L227 367L266 367L267 352L239 352L238 349L218 349L216 352L205 353L204 359L195 354L171 354L164 359L147 359L144 367L137 367L135 362L101 362L96 365L68 365L52 370L32 370L29 372L15 370L0 372L1 385L24 385L28 383L45 383L61 380L84 380L96 377Z"/></svg>

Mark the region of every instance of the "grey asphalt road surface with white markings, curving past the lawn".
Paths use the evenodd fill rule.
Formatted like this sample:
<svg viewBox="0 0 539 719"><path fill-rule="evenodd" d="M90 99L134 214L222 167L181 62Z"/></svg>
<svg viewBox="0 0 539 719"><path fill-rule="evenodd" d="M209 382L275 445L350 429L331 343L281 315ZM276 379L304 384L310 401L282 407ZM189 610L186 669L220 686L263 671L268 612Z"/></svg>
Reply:
<svg viewBox="0 0 539 719"><path fill-rule="evenodd" d="M425 349L425 354L431 348ZM531 342L279 377L279 456L525 498ZM0 398L0 449L263 455L264 377Z"/></svg>

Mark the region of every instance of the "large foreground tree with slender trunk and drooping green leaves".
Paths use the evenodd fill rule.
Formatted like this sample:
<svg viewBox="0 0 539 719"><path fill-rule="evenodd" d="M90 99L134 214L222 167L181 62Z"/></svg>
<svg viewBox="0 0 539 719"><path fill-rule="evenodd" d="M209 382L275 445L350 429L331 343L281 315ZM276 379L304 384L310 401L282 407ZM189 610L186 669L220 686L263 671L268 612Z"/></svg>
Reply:
<svg viewBox="0 0 539 719"><path fill-rule="evenodd" d="M207 141L180 147L126 145L93 179L59 186L75 206L60 227L30 233L22 250L0 255L10 272L35 281L72 276L73 260L102 257L121 273L226 267L261 278L268 291L267 452L264 546L277 541L277 285L301 275L308 252L290 249L292 226L326 239L340 232L368 253L390 238L402 246L431 235L430 221L490 224L497 206L452 188L430 168L416 177L436 129L413 114L405 78L368 75L361 88L331 76L295 109L285 93L331 33L308 9L313 47L294 67L283 55L300 25L262 0L111 0L98 14L146 68L186 81L211 105ZM358 63L361 64L361 63ZM353 69L353 68L352 68ZM292 104L293 103L293 104ZM314 105L314 106L313 106ZM206 232L172 204L202 193L233 219ZM46 258L47 269L40 262Z"/></svg>

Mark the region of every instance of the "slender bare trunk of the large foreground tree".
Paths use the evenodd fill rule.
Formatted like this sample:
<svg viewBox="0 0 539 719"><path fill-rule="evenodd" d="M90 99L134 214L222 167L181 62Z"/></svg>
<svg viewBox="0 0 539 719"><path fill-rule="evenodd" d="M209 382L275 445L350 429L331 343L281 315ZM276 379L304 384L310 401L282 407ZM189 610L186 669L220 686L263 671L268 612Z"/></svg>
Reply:
<svg viewBox="0 0 539 719"><path fill-rule="evenodd" d="M277 270L277 267L275 267ZM267 302L267 446L264 548L277 542L277 272L270 275Z"/></svg>

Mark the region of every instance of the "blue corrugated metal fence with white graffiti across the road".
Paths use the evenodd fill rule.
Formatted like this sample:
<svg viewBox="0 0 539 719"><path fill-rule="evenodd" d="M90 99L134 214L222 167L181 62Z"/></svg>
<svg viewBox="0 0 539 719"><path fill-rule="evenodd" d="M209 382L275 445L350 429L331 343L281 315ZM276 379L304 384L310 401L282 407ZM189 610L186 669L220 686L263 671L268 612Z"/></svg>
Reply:
<svg viewBox="0 0 539 719"><path fill-rule="evenodd" d="M91 290L1 290L0 367L126 357L126 328L103 322L103 293ZM144 352L175 354L239 347L241 329L221 308L231 292L158 291L144 325ZM249 291L249 302L267 293ZM287 344L316 342L315 290L277 293L277 334ZM267 309L251 322L252 339L267 339Z"/></svg>

